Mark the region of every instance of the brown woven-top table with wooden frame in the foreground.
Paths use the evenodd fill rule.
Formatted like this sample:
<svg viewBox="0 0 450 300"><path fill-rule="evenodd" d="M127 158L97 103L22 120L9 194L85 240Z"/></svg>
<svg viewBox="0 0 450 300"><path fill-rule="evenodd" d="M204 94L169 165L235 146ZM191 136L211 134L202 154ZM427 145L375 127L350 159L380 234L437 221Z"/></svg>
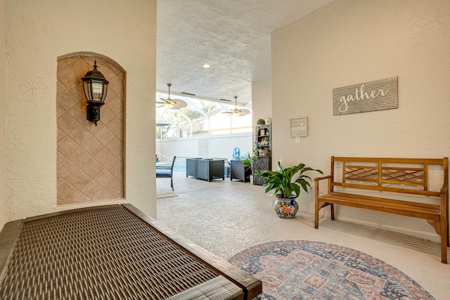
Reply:
<svg viewBox="0 0 450 300"><path fill-rule="evenodd" d="M129 204L13 221L0 237L0 299L247 299L261 292L259 280Z"/></svg>

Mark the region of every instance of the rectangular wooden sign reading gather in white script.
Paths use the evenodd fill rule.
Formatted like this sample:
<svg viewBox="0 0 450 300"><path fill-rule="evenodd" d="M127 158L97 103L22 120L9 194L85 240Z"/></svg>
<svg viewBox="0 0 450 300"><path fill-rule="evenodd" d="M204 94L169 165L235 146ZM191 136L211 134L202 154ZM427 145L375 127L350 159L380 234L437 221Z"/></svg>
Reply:
<svg viewBox="0 0 450 300"><path fill-rule="evenodd" d="M333 115L399 108L398 77L333 89Z"/></svg>

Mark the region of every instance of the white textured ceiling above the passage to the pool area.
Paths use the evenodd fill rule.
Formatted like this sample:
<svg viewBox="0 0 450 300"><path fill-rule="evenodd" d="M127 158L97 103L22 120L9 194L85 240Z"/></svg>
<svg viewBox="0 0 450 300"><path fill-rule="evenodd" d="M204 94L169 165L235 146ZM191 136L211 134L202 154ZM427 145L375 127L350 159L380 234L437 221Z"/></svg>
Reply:
<svg viewBox="0 0 450 300"><path fill-rule="evenodd" d="M271 77L271 32L332 1L159 0L157 90L250 102Z"/></svg>

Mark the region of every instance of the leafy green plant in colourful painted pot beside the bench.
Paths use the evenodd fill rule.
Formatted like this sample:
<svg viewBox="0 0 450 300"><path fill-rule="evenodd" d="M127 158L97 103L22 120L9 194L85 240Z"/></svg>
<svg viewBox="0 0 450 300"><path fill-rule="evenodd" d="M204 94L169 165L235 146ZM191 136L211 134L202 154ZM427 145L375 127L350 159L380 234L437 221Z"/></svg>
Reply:
<svg viewBox="0 0 450 300"><path fill-rule="evenodd" d="M323 174L321 170L306 167L304 164L283 168L278 162L276 171L263 171L259 175L265 180L262 185L265 193L274 191L276 197L274 209L280 218L290 219L297 214L298 203L295 199L300 196L302 190L309 193L308 188L311 188L309 184L311 178L305 174L308 171Z"/></svg>

